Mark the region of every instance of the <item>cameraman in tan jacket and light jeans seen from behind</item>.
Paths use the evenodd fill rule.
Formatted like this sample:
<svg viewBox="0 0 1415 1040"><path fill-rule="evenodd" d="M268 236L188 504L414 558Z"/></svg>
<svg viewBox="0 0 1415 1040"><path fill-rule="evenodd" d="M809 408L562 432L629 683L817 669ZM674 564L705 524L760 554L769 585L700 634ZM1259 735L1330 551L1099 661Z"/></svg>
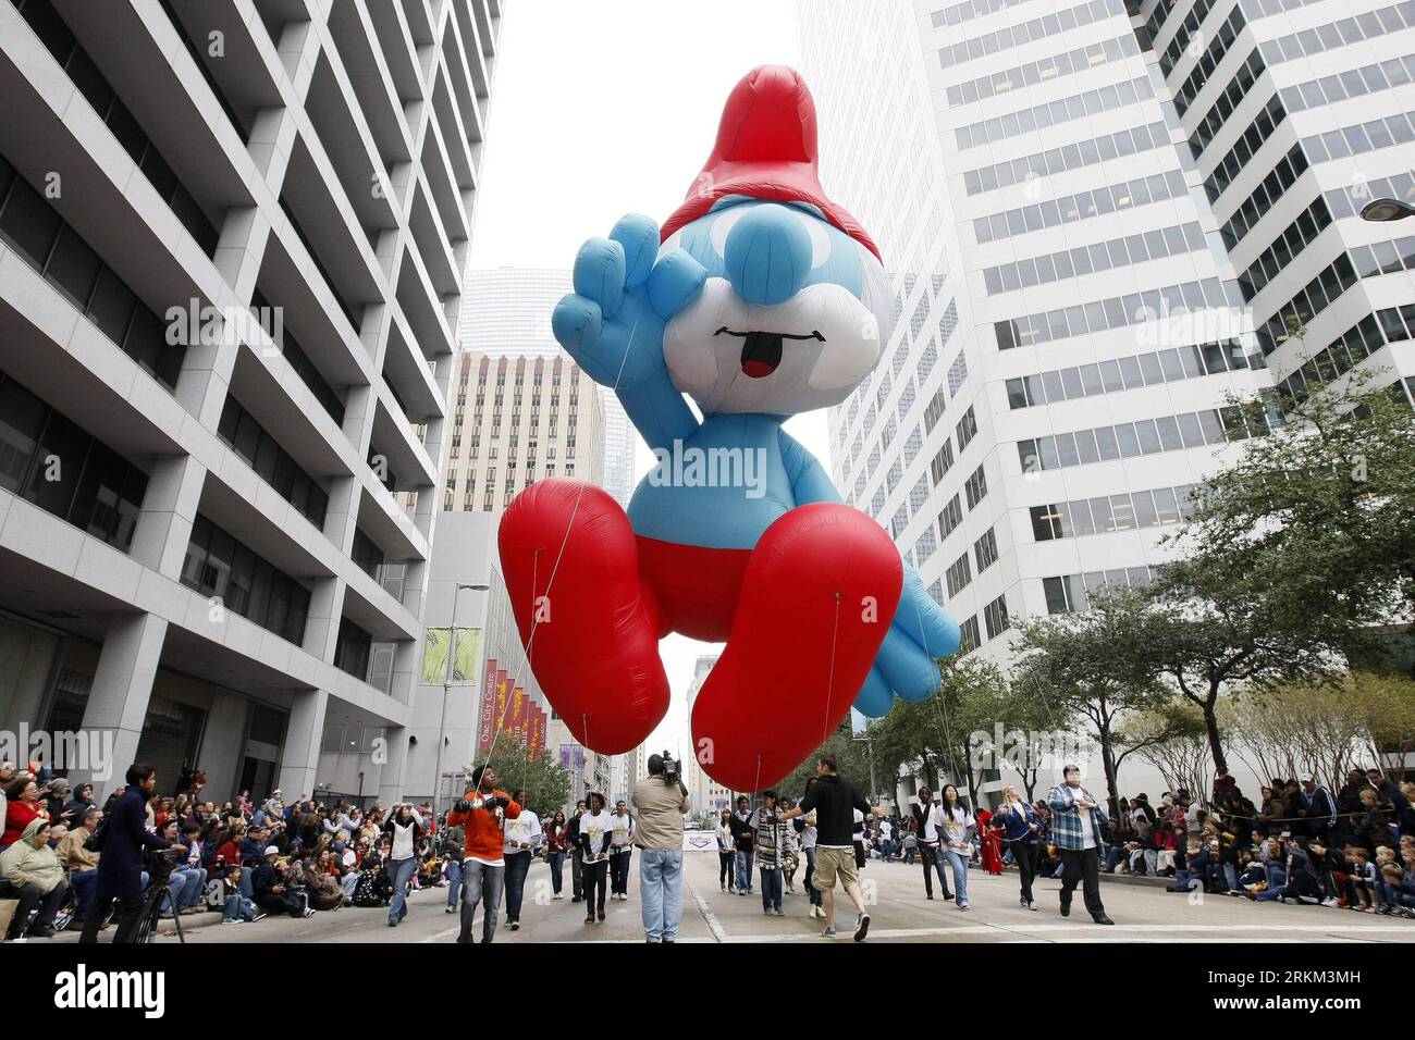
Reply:
<svg viewBox="0 0 1415 1040"><path fill-rule="evenodd" d="M648 756L648 775L630 795L638 814L634 843L644 850L638 883L644 900L647 942L675 942L683 914L683 814L688 788L678 763L665 754Z"/></svg>

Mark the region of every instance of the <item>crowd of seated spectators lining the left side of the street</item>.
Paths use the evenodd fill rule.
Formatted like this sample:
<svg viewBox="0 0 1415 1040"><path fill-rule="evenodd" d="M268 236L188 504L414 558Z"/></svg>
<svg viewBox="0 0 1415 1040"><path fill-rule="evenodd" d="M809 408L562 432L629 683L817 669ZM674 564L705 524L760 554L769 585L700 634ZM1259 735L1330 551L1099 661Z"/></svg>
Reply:
<svg viewBox="0 0 1415 1040"><path fill-rule="evenodd" d="M391 907L409 889L447 883L446 843L437 840L427 805L365 812L304 795L286 801L279 790L262 801L243 791L218 804L202 797L204 785L204 774L187 771L177 794L147 801L147 829L185 849L166 879L164 918L219 913L222 924L245 924L270 914L311 917ZM116 787L99 805L89 784L71 787L37 763L0 763L0 923L6 904L13 910L6 940L83 928L102 857L85 843L123 790ZM406 826L410 815L419 818L413 828ZM144 872L144 886L147 880Z"/></svg>

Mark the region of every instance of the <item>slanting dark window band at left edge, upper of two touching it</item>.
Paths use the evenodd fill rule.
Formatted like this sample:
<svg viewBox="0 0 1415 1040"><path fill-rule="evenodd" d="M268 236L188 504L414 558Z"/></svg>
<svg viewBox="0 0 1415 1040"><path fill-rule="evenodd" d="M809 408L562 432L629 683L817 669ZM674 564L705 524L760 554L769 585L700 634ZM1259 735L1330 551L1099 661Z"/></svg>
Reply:
<svg viewBox="0 0 1415 1040"><path fill-rule="evenodd" d="M0 238L67 296L103 335L168 389L185 348L117 273L0 156Z"/></svg>

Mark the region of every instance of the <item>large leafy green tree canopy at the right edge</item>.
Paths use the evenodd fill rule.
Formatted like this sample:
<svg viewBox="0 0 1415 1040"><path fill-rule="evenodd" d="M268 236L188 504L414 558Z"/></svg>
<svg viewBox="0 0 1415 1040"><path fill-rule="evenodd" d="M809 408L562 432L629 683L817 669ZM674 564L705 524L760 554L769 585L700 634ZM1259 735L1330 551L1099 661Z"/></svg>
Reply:
<svg viewBox="0 0 1415 1040"><path fill-rule="evenodd" d="M1193 516L1167 541L1189 563L1182 591L1238 579L1244 596L1261 591L1266 628L1350 658L1415 608L1415 422L1404 396L1373 385L1377 372L1333 382L1326 361L1302 372L1306 388L1282 399L1281 424L1271 399L1230 400L1225 415L1266 436L1244 440L1196 490Z"/></svg>

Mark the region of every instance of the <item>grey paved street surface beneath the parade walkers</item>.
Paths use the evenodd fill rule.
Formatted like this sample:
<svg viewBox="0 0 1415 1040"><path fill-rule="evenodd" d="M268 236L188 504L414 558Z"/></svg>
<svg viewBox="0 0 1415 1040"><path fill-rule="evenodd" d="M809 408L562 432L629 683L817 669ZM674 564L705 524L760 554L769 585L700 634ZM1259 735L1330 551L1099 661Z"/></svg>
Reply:
<svg viewBox="0 0 1415 1040"><path fill-rule="evenodd" d="M717 889L717 857L688 853L685 862L683 942L821 942L824 923L807 917L807 896L797 874L797 893L785 897L785 917L761 913L760 897L733 896ZM583 904L572 903L569 870L566 899L548 901L549 867L536 863L526 882L519 931L505 924L497 942L641 942L638 860L635 856L625 903L606 904L604 924L584 924ZM972 908L961 913L954 904L924 900L920 867L873 860L862 873L866 896L872 897L870 942L1415 942L1415 921L1378 917L1348 910L1210 896L1191 903L1148 883L1108 880L1101 884L1107 911L1115 927L1090 921L1080 893L1070 918L1057 913L1060 882L1037 883L1040 911L1017 904L1017 877L990 877L975 869L969 874ZM838 890L839 897L839 890ZM838 906L848 906L842 899ZM266 918L256 924L207 924L207 917L183 918L188 944L208 942L453 942L457 917L443 911L446 889L412 896L408 918L388 927L386 911L345 907L308 920ZM212 921L216 920L211 914ZM838 918L841 935L849 944L848 925L853 913ZM480 914L478 914L480 935ZM112 931L105 932L105 940ZM57 942L76 941L75 932ZM175 940L161 940L175 944Z"/></svg>

